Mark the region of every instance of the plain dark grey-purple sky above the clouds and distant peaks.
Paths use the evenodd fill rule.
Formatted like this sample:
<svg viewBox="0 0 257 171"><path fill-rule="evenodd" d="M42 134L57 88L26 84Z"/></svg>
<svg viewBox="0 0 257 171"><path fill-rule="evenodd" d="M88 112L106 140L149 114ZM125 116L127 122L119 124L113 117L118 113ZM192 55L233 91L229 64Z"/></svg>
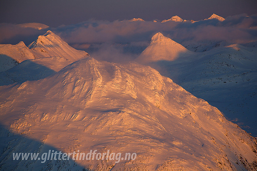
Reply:
<svg viewBox="0 0 257 171"><path fill-rule="evenodd" d="M256 0L1 0L0 23L37 22L50 27L76 24L90 19L145 21L169 19L202 20L213 13L224 18L257 13Z"/></svg>

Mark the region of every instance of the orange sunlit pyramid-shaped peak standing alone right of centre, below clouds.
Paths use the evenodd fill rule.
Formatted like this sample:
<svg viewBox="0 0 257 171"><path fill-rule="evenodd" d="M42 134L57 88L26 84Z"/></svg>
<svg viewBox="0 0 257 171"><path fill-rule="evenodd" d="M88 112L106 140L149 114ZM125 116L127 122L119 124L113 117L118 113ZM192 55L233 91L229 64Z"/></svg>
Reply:
<svg viewBox="0 0 257 171"><path fill-rule="evenodd" d="M181 44L163 36L162 33L156 33L152 36L150 45L136 59L137 62L147 64L149 62L157 62L160 60L173 61L181 54L191 54Z"/></svg>

